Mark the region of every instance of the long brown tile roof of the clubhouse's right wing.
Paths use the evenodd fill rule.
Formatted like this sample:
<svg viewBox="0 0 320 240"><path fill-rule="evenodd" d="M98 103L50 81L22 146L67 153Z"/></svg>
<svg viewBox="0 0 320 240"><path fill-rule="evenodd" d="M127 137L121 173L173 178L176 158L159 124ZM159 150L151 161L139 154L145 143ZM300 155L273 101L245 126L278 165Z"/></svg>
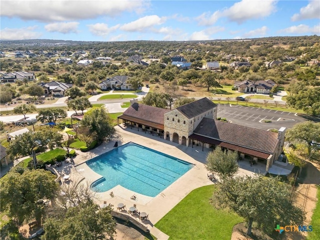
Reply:
<svg viewBox="0 0 320 240"><path fill-rule="evenodd" d="M269 153L279 141L276 132L209 118L203 118L193 133Z"/></svg>

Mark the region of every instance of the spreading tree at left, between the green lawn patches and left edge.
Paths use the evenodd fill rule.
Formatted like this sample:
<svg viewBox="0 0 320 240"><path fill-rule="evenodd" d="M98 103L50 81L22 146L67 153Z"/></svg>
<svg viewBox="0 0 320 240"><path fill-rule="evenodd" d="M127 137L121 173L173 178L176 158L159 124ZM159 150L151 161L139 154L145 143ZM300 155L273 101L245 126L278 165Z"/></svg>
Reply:
<svg viewBox="0 0 320 240"><path fill-rule="evenodd" d="M34 167L36 167L35 151L44 151L46 147L53 149L53 147L61 146L61 144L62 135L51 129L36 132L28 131L15 136L7 147L7 152L12 156L32 155Z"/></svg>

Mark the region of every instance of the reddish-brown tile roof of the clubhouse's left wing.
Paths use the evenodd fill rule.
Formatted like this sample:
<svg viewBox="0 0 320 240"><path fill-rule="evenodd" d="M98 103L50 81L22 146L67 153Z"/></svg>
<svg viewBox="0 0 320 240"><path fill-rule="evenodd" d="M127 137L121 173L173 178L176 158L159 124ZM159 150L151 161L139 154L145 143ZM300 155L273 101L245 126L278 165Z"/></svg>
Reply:
<svg viewBox="0 0 320 240"><path fill-rule="evenodd" d="M131 116L137 119L164 124L164 112L168 109L133 103L123 112L124 116Z"/></svg>

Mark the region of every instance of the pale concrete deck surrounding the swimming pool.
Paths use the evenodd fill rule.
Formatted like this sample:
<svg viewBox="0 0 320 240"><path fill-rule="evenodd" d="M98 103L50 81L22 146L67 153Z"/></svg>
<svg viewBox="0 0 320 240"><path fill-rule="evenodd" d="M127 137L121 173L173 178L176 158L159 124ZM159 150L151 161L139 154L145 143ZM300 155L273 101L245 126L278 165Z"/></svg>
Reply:
<svg viewBox="0 0 320 240"><path fill-rule="evenodd" d="M194 166L174 181L171 185L165 188L161 193L155 197L145 196L139 193L135 193L120 185L113 187L105 192L96 193L97 203L102 204L106 201L107 204L112 204L116 209L117 204L122 202L128 209L133 204L136 204L138 211L146 212L148 214L149 221L148 229L151 229L151 233L158 239L167 239L165 234L161 236L161 232L158 231L153 225L160 220L167 212L169 212L178 202L180 202L190 191L195 188L213 184L211 180L207 178L208 171L205 169L205 158L209 152L209 148L202 146L187 147L182 146L168 140L164 140L159 136L152 136L150 133L137 131L137 128L129 129L120 126L115 126L115 136L112 141L103 143L99 147L91 150L90 152L78 152L79 154L74 158L75 167L70 173L72 181L82 179L81 183L91 184L93 181L99 179L101 175L94 172L85 163L86 160L91 159L97 155L100 155L106 151L114 149L114 142L117 141L118 145L123 145L127 142L134 142L151 149L166 153L168 155L180 158L187 162L193 163ZM253 175L254 173L239 168L238 174L241 175ZM113 195L110 195L110 192ZM130 199L135 194L136 199ZM146 223L146 221L145 221Z"/></svg>

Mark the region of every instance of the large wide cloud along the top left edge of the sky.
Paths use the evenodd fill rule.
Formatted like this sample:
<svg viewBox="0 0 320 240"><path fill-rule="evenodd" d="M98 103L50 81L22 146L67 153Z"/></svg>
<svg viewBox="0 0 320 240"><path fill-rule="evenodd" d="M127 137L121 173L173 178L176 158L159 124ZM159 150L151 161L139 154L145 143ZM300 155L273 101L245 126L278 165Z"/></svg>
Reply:
<svg viewBox="0 0 320 240"><path fill-rule="evenodd" d="M24 20L67 21L141 12L143 0L1 0L0 15Z"/></svg>

